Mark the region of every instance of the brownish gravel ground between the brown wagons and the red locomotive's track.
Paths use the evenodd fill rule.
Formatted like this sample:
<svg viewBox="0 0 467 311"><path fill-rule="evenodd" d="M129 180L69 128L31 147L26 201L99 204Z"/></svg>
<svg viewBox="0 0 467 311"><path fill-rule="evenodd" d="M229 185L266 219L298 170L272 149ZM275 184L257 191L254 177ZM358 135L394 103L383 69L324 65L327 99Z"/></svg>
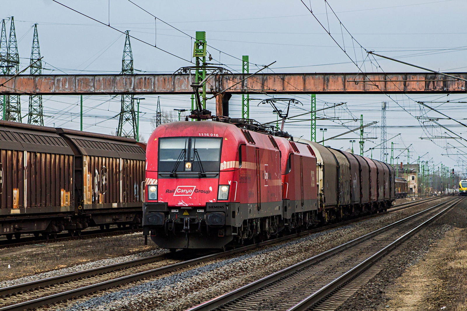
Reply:
<svg viewBox="0 0 467 311"><path fill-rule="evenodd" d="M159 249L154 243L148 246L143 244L142 234L132 233L2 249L0 287L167 252L167 249ZM62 269L50 269L57 267ZM12 279L12 276L22 277Z"/></svg>

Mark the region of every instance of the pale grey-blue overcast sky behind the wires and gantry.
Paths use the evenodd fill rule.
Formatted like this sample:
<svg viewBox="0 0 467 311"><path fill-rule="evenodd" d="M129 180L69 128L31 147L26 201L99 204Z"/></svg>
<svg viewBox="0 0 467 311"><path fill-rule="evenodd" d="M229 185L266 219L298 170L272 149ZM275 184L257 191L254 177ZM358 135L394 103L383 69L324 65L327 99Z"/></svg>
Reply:
<svg viewBox="0 0 467 311"><path fill-rule="evenodd" d="M190 65L192 40L187 35L164 25L161 21L155 24L154 17L142 11L128 0L58 0L79 12L109 23L122 31L130 30L134 37L146 41L132 39L135 73L173 73L182 66ZM213 62L220 62L232 71L241 70L241 55L249 55L250 71L258 66L276 61L271 69L265 72L356 72L357 67L347 55L319 25L300 0L255 0L255 1L161 1L133 0L151 14L179 30L194 36L196 31L206 31L208 48ZM344 42L349 55L357 55L361 60L361 49L349 40L348 34L342 35L339 22L326 7L324 0L304 1L311 8L318 20L329 30L342 45ZM419 66L445 72L467 71L467 30L465 12L467 1L463 0L392 0L392 1L347 1L328 0L342 24L364 48L377 53L415 63ZM44 57L44 74L76 74L76 73L119 73L125 36L111 28L63 7L52 0L2 0L2 18L14 16L16 36L19 41L21 68L29 63L33 37L33 24L38 24L41 55ZM328 24L329 23L329 24ZM328 26L329 25L329 26ZM7 22L7 32L10 23ZM151 45L157 46L177 58ZM343 46L343 45L342 45ZM355 47L355 48L354 48ZM229 55L234 57L231 57ZM366 56L366 55L364 55ZM353 58L355 56L352 56ZM183 59L181 59L183 58ZM376 59L385 72L420 72L422 70L397 62ZM373 64L375 61L373 60ZM359 63L360 65L360 63ZM381 70L378 69L378 70ZM362 70L374 72L376 68L371 62L364 63ZM253 96L266 98L265 96ZM292 107L290 115L302 113L302 109L310 109L309 95L291 96L299 99L303 107ZM429 141L420 137L444 134L444 129L425 128L416 117L441 117L436 112L420 108L415 101L425 101L446 115L461 122L467 117L464 95L317 95L317 108L333 103L346 102L339 109L329 109L326 117L339 117L340 120L318 120L318 137L322 138L319 128L326 128L325 137L347 131L359 123L348 121L353 117L364 115L365 123L378 121L381 124L381 105L389 102L387 110L387 138L398 133L393 139L395 148L410 147L410 162L417 157L431 160L430 165L446 166L462 170L462 159L466 156L443 156L442 154L467 153L467 148L454 139L435 139ZM141 102L140 133L147 139L152 131L150 119L156 110L157 96L146 96ZM161 96L163 110L174 108L190 108L190 96ZM446 101L449 100L449 103ZM77 96L44 97L44 124L56 127L79 129L79 106ZM432 103L428 103L432 102ZM27 115L28 97L21 97L22 115ZM208 103L208 109L215 111L215 101ZM239 117L241 97L233 96L230 100L231 117ZM118 119L113 118L120 111L120 97L109 96L85 97L84 129L101 133L115 132ZM344 108L342 108L344 107ZM403 107L406 111L403 111ZM323 114L319 116L324 117ZM250 104L250 117L259 122L275 119L272 108L257 107ZM26 122L27 117L24 117ZM460 124L448 120L439 123L467 137L466 129ZM308 122L287 124L286 130L292 135L310 138ZM452 135L452 134L451 134ZM365 129L365 150L380 144L381 130L378 127ZM348 134L345 139L326 142L337 149L351 147L349 140L356 134ZM467 145L464 141L463 144ZM390 143L388 143L390 147ZM456 148L453 148L456 146ZM446 149L447 147L447 149ZM376 147L378 148L378 147ZM357 153L358 143L354 144ZM388 150L390 153L390 150ZM396 157L401 151L395 150ZM428 152L428 153L426 153ZM370 155L370 152L365 153ZM373 157L379 159L380 150L375 149ZM389 158L388 158L389 161ZM404 151L398 161L407 161ZM464 169L467 169L467 162Z"/></svg>

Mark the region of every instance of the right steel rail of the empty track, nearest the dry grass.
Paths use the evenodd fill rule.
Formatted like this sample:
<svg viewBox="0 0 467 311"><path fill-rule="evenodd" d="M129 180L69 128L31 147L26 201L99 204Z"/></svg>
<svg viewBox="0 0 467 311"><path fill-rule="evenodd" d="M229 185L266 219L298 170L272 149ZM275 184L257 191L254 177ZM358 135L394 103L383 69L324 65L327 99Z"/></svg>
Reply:
<svg viewBox="0 0 467 311"><path fill-rule="evenodd" d="M326 298L326 296L335 294L335 292L337 290L340 290L341 287L345 286L346 283L350 282L355 277L357 277L359 274L361 274L363 271L367 270L371 265L373 265L380 258L387 255L392 250L396 249L399 245L401 245L403 242L407 241L410 237L415 235L423 227L427 226L432 221L439 218L441 215L445 214L449 209L454 207L461 200L462 199L457 200L453 204L449 205L448 207L446 207L445 209L440 211L438 214L433 215L428 220L426 220L426 221L422 222L421 224L419 224L417 227L415 227L415 228L411 229L410 231L406 232L404 235L400 236L394 242L390 243L389 245L387 245L383 249L379 250L374 255L368 257L366 260L359 263L358 265L356 265L351 270L348 270L343 275L341 275L338 278L334 279L331 283L328 283L327 285L323 286L321 289L315 291L310 296L306 297L301 302L299 302L295 306L291 307L287 311L304 311L304 310L307 310L311 306L318 304L321 300L324 300Z"/></svg>

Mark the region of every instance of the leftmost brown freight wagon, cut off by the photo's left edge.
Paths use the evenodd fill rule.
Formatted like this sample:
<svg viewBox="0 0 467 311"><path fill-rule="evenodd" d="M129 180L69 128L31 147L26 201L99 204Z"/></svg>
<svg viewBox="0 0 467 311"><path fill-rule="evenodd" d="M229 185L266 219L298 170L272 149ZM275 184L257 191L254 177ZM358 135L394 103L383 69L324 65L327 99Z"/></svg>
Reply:
<svg viewBox="0 0 467 311"><path fill-rule="evenodd" d="M73 160L54 128L0 121L1 235L48 235L71 224Z"/></svg>

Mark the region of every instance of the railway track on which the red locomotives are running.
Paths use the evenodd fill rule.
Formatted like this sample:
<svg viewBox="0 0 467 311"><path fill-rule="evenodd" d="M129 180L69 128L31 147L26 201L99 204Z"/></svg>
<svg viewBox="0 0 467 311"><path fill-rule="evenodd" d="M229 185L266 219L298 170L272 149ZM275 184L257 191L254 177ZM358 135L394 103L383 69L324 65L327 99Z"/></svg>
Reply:
<svg viewBox="0 0 467 311"><path fill-rule="evenodd" d="M437 198L439 199L439 198ZM340 222L321 228L307 230L294 235L268 240L228 250L216 252L205 256L186 259L187 252L177 251L175 253L165 253L157 256L136 259L124 263L117 263L103 266L92 270L78 271L62 276L55 276L43 280L18 284L0 289L0 311L4 310L25 310L39 307L45 304L53 304L58 301L87 295L98 290L105 290L114 286L138 281L147 277L161 275L167 272L179 270L187 266L196 265L220 257L231 256L249 249L263 247L269 244L282 242L294 237L308 235L314 232L339 227L350 222L360 221L381 214L386 214L403 208L413 207L425 203L426 201L410 202L403 206L394 207L387 212L364 216L351 221ZM444 204L444 203L441 203Z"/></svg>

